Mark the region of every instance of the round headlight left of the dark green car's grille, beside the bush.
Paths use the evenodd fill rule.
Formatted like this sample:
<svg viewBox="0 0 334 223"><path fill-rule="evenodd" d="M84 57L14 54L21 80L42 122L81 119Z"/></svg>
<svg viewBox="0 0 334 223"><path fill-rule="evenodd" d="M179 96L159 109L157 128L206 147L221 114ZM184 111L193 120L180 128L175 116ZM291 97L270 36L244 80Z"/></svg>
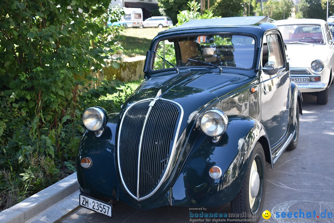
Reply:
<svg viewBox="0 0 334 223"><path fill-rule="evenodd" d="M106 126L107 112L100 107L88 108L82 115L83 124L91 131L99 131Z"/></svg>

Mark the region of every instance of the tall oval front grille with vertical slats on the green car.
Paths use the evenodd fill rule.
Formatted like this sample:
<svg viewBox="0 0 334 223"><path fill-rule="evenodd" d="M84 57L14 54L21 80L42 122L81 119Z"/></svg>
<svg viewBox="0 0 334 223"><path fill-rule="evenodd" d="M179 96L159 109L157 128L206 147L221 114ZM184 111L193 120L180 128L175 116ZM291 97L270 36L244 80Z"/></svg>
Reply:
<svg viewBox="0 0 334 223"><path fill-rule="evenodd" d="M122 117L118 136L120 175L128 193L137 200L158 188L182 118L179 105L164 99L152 102L131 105Z"/></svg>

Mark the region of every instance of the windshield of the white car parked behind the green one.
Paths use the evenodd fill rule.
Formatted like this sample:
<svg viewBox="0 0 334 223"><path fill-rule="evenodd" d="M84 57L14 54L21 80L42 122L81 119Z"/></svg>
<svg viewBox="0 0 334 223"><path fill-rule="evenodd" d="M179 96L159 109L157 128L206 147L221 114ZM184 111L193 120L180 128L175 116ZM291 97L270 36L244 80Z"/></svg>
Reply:
<svg viewBox="0 0 334 223"><path fill-rule="evenodd" d="M281 25L280 29L284 42L325 44L324 36L320 25L316 24L295 24Z"/></svg>

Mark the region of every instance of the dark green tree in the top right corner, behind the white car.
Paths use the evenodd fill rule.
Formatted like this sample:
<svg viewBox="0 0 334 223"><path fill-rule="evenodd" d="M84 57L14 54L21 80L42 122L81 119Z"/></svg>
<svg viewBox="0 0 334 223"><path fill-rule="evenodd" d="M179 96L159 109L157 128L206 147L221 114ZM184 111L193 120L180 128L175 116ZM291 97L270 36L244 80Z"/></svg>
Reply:
<svg viewBox="0 0 334 223"><path fill-rule="evenodd" d="M297 6L296 18L325 19L326 10L320 4L320 0L300 0ZM327 0L326 0L327 8Z"/></svg>

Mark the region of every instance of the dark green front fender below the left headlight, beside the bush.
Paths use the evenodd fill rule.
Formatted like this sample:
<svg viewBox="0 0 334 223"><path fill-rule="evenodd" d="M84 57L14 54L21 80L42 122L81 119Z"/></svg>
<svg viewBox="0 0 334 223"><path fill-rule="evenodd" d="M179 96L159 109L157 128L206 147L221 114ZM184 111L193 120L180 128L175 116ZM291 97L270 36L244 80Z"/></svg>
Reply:
<svg viewBox="0 0 334 223"><path fill-rule="evenodd" d="M80 191L103 201L118 200L120 182L117 177L115 157L118 116L119 113L108 115L108 123L99 137L94 131L86 130L80 140L76 159ZM92 160L92 165L88 169L80 166L80 160L85 157Z"/></svg>

